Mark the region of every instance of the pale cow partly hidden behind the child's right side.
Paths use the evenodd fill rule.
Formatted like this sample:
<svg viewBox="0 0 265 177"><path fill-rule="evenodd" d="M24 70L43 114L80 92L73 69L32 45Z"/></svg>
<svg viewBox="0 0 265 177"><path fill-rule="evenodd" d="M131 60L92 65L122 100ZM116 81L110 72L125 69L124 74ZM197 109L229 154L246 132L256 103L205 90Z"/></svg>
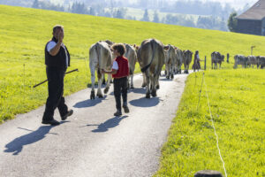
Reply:
<svg viewBox="0 0 265 177"><path fill-rule="evenodd" d="M130 76L128 76L128 88L131 87L131 89L133 89L133 73L136 64L137 53L132 45L126 43L125 43L125 58L128 59L129 68L130 68ZM131 78L131 86L130 86L130 78Z"/></svg>

